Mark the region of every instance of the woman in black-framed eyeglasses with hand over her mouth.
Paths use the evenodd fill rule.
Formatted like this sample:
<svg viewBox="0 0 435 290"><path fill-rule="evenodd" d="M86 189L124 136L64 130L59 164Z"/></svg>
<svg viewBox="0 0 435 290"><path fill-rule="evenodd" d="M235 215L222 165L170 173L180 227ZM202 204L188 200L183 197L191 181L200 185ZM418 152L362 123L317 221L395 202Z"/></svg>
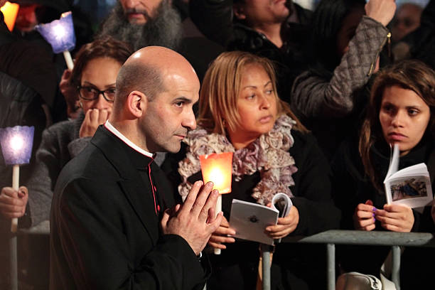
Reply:
<svg viewBox="0 0 435 290"><path fill-rule="evenodd" d="M48 220L55 182L60 170L90 141L112 111L115 81L132 51L126 43L104 38L83 45L70 77L82 108L77 119L60 122L43 131L28 189L2 188L0 216L20 219L20 226ZM28 194L30 193L30 194ZM27 205L28 203L28 205Z"/></svg>

